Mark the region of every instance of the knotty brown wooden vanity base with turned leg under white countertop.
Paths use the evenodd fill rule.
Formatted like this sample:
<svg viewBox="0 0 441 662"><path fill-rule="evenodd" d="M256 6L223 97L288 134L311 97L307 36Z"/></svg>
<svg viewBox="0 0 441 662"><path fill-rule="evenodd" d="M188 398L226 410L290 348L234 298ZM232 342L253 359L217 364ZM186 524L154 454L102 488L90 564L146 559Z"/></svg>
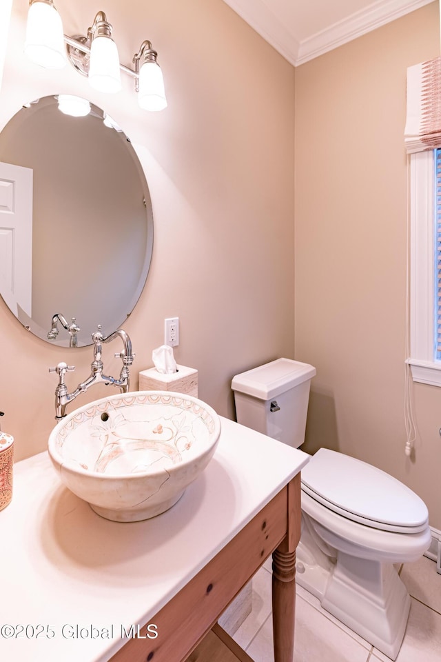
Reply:
<svg viewBox="0 0 441 662"><path fill-rule="evenodd" d="M112 662L249 662L216 621L271 552L274 660L292 662L299 539L297 474L150 620L158 637L131 639Z"/></svg>

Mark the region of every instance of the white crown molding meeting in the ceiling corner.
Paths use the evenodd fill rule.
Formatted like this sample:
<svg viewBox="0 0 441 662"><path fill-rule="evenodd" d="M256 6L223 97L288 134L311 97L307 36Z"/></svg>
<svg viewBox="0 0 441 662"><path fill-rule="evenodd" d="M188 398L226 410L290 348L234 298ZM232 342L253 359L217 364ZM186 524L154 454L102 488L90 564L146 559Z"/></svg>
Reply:
<svg viewBox="0 0 441 662"><path fill-rule="evenodd" d="M434 0L378 0L300 43L264 0L224 1L288 62L298 66Z"/></svg>

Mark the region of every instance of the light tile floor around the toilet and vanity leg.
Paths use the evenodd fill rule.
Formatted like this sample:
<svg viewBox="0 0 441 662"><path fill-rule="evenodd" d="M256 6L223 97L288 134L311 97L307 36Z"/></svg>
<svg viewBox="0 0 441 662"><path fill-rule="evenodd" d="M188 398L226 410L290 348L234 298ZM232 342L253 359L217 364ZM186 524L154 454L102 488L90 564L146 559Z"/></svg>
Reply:
<svg viewBox="0 0 441 662"><path fill-rule="evenodd" d="M411 612L396 662L441 662L441 574L425 556L407 563L400 576L411 595ZM234 639L254 662L274 662L271 624L271 561L253 579L252 612ZM389 658L323 610L297 587L296 662L389 662Z"/></svg>

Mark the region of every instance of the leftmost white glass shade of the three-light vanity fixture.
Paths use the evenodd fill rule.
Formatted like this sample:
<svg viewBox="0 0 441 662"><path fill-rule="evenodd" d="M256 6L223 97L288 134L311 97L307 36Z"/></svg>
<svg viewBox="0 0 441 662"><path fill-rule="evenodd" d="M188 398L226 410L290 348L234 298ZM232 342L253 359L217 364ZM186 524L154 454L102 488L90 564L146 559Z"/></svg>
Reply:
<svg viewBox="0 0 441 662"><path fill-rule="evenodd" d="M47 69L62 69L67 62L63 23L53 5L38 0L29 8L25 54Z"/></svg>

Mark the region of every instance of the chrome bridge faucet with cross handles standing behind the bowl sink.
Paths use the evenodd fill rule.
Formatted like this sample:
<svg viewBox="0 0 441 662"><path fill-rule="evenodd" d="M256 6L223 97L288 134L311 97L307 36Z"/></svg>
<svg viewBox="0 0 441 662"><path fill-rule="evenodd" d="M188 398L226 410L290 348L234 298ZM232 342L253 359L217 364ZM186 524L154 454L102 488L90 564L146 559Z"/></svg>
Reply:
<svg viewBox="0 0 441 662"><path fill-rule="evenodd" d="M103 361L101 361L103 343L110 343L115 338L121 338L124 345L123 351L115 354L116 359L122 359L123 361L119 379L103 374ZM133 363L134 354L132 353L132 341L130 341L128 334L123 329L117 329L105 338L101 332L101 325L98 325L98 330L92 333L92 341L94 342L94 360L90 364L92 371L88 379L81 382L72 393L68 393L68 387L64 379L66 372L72 372L72 370L75 370L75 366L68 365L62 361L56 368L49 368L49 372L57 372L59 375L59 383L55 389L55 419L57 421L65 417L65 410L68 404L79 396L80 393L85 393L94 384L110 384L119 388L121 393L127 393L129 390L129 366Z"/></svg>

